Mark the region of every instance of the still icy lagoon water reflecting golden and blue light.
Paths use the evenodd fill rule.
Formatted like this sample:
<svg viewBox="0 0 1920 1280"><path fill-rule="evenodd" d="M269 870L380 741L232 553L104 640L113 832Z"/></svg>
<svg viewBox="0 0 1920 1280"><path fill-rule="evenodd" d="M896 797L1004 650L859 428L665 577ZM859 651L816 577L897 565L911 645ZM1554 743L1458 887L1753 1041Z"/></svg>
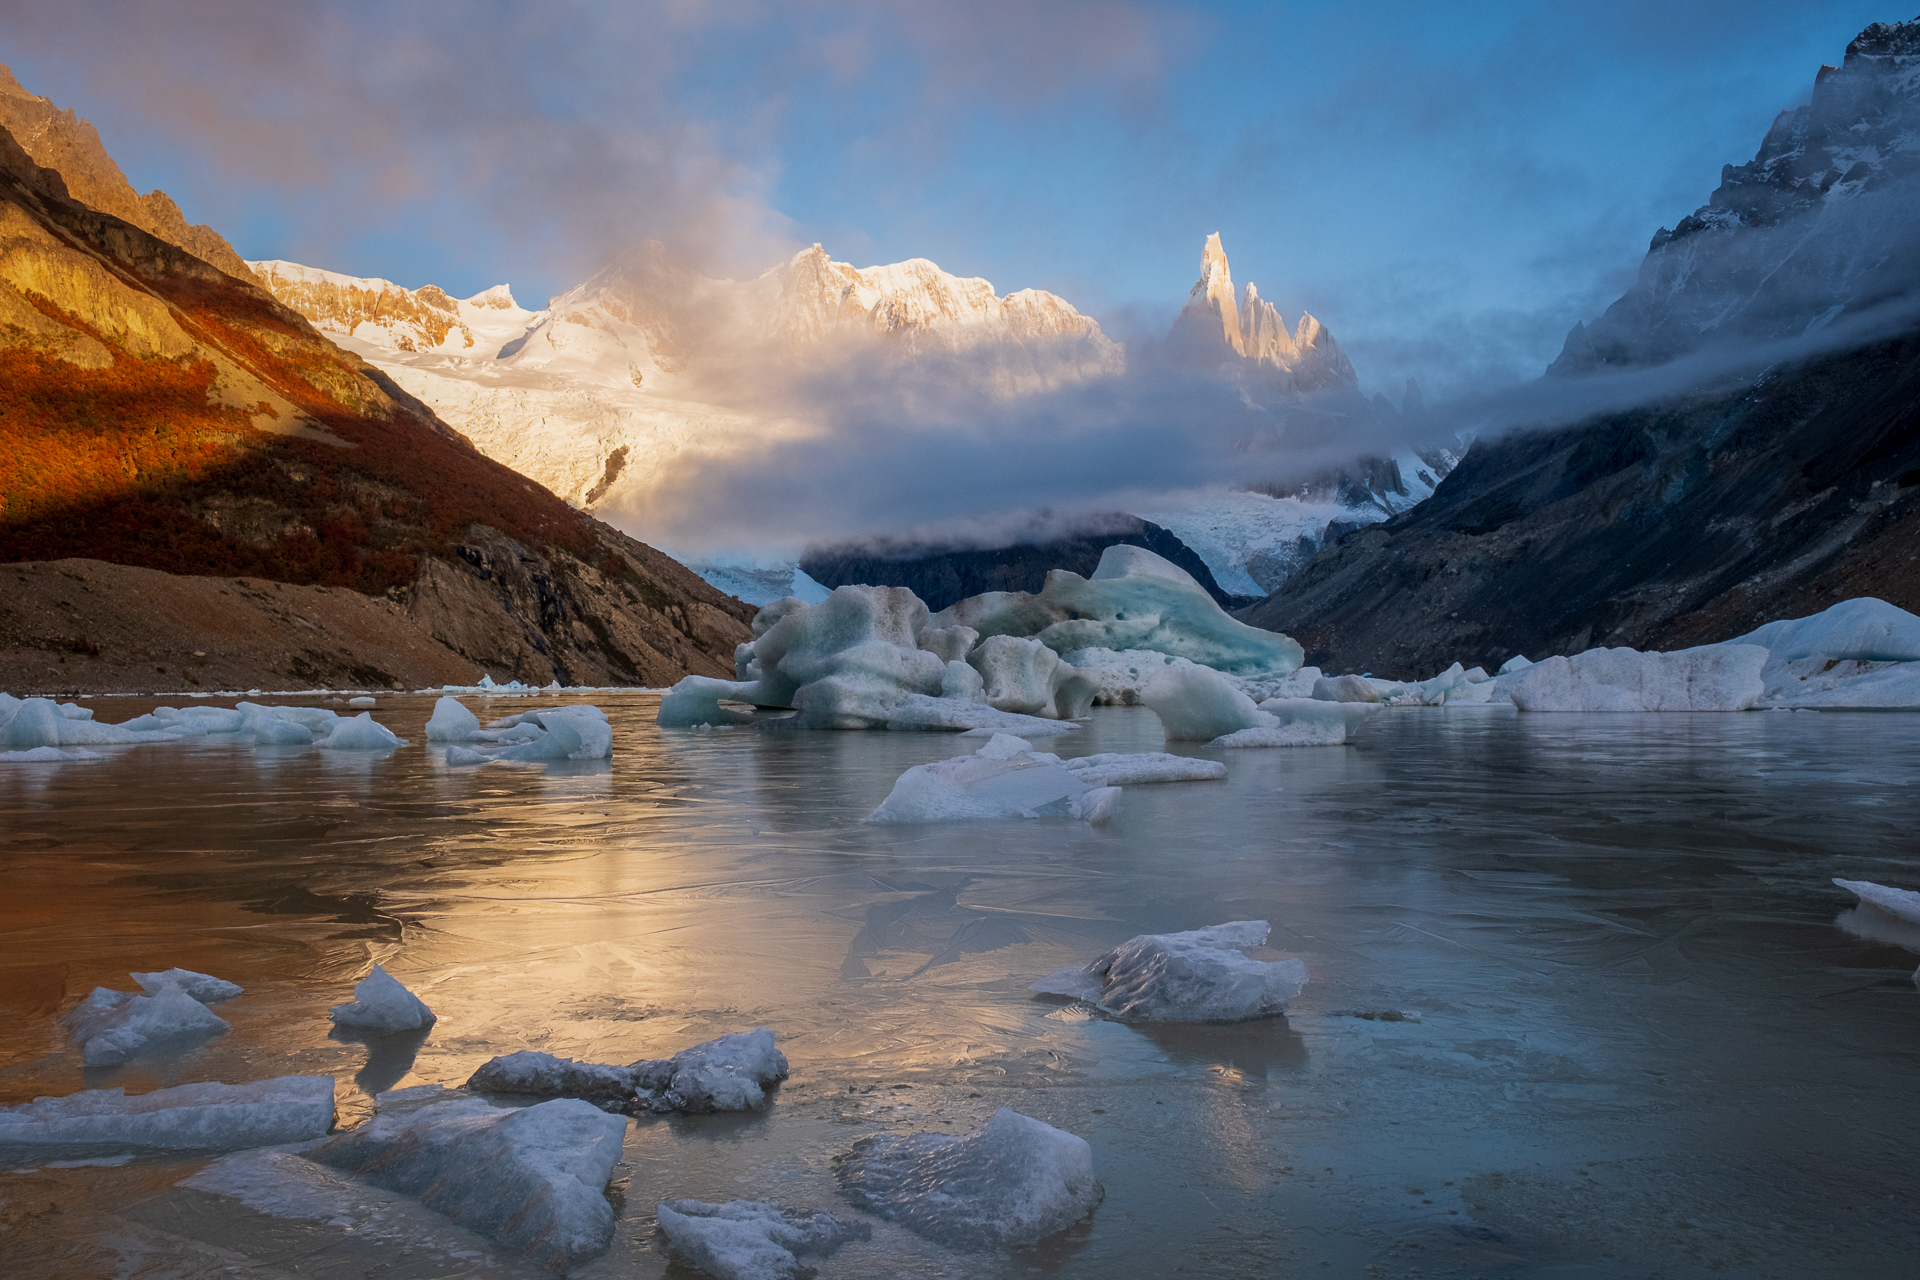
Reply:
<svg viewBox="0 0 1920 1280"><path fill-rule="evenodd" d="M856 1217L835 1155L998 1107L1092 1146L1089 1221L952 1253L868 1219L822 1276L1799 1278L1920 1257L1920 927L1832 885L1920 887L1920 716L1390 708L1346 747L1169 747L1229 777L1129 787L1104 827L870 825L900 771L977 743L659 729L657 695L468 704L557 700L609 712L611 760L447 768L432 699L382 697L413 743L392 754L194 739L0 771L0 1105L332 1075L355 1125L372 1092L497 1054L624 1063L766 1025L793 1071L772 1105L632 1121L612 1249L576 1276L697 1274L659 1199ZM1096 708L1046 747L1164 741L1144 708ZM1027 990L1233 919L1273 923L1256 956L1308 963L1286 1017L1123 1025ZM328 1023L374 960L436 1025ZM246 988L219 1006L232 1029L83 1067L60 1011L175 965ZM403 1196L275 1161L223 1165L219 1190L179 1186L205 1159L15 1161L0 1270L534 1274Z"/></svg>

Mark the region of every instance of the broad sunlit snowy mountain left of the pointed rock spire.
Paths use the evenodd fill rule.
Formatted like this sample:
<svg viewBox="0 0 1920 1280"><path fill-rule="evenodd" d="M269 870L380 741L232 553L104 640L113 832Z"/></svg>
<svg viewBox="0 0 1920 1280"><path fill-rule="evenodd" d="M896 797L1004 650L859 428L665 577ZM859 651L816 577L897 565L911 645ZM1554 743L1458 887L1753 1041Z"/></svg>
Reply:
<svg viewBox="0 0 1920 1280"><path fill-rule="evenodd" d="M298 263L252 267L488 457L588 509L645 507L689 449L806 430L716 403L716 384L741 367L981 351L991 363L972 372L1020 393L1121 363L1100 326L1052 294L1002 297L925 259L856 269L820 246L753 280L714 280L647 242L541 311L520 309L507 286L457 301Z"/></svg>

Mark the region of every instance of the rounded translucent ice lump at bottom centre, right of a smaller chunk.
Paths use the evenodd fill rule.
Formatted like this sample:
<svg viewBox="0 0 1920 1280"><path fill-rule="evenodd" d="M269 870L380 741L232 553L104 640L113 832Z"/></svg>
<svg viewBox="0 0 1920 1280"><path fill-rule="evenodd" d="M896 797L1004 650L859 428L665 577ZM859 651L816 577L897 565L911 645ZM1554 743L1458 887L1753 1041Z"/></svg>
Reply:
<svg viewBox="0 0 1920 1280"><path fill-rule="evenodd" d="M876 1134L833 1171L849 1201L952 1249L1025 1245L1100 1203L1092 1148L1000 1107L972 1134Z"/></svg>

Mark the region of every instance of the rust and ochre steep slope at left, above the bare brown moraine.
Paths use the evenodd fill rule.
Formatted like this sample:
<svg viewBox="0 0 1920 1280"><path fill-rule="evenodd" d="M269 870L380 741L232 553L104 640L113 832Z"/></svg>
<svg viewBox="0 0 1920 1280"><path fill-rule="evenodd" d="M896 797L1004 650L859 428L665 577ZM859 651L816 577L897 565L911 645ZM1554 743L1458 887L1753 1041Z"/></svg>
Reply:
<svg viewBox="0 0 1920 1280"><path fill-rule="evenodd" d="M0 558L384 593L495 676L724 674L749 610L0 132ZM290 672L290 676L298 677Z"/></svg>

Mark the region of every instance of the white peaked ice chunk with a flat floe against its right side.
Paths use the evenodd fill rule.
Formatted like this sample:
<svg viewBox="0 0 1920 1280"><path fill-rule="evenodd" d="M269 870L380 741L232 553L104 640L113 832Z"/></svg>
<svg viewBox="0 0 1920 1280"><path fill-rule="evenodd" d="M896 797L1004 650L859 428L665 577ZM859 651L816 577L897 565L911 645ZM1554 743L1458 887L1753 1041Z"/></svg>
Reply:
<svg viewBox="0 0 1920 1280"><path fill-rule="evenodd" d="M916 764L900 773L887 798L866 821L954 821L979 818L1089 818L1083 800L1102 783L1066 768L1060 756L1033 750L1033 743L1010 733L993 739L972 756ZM1092 800L1100 814L1112 812L1117 796Z"/></svg>

